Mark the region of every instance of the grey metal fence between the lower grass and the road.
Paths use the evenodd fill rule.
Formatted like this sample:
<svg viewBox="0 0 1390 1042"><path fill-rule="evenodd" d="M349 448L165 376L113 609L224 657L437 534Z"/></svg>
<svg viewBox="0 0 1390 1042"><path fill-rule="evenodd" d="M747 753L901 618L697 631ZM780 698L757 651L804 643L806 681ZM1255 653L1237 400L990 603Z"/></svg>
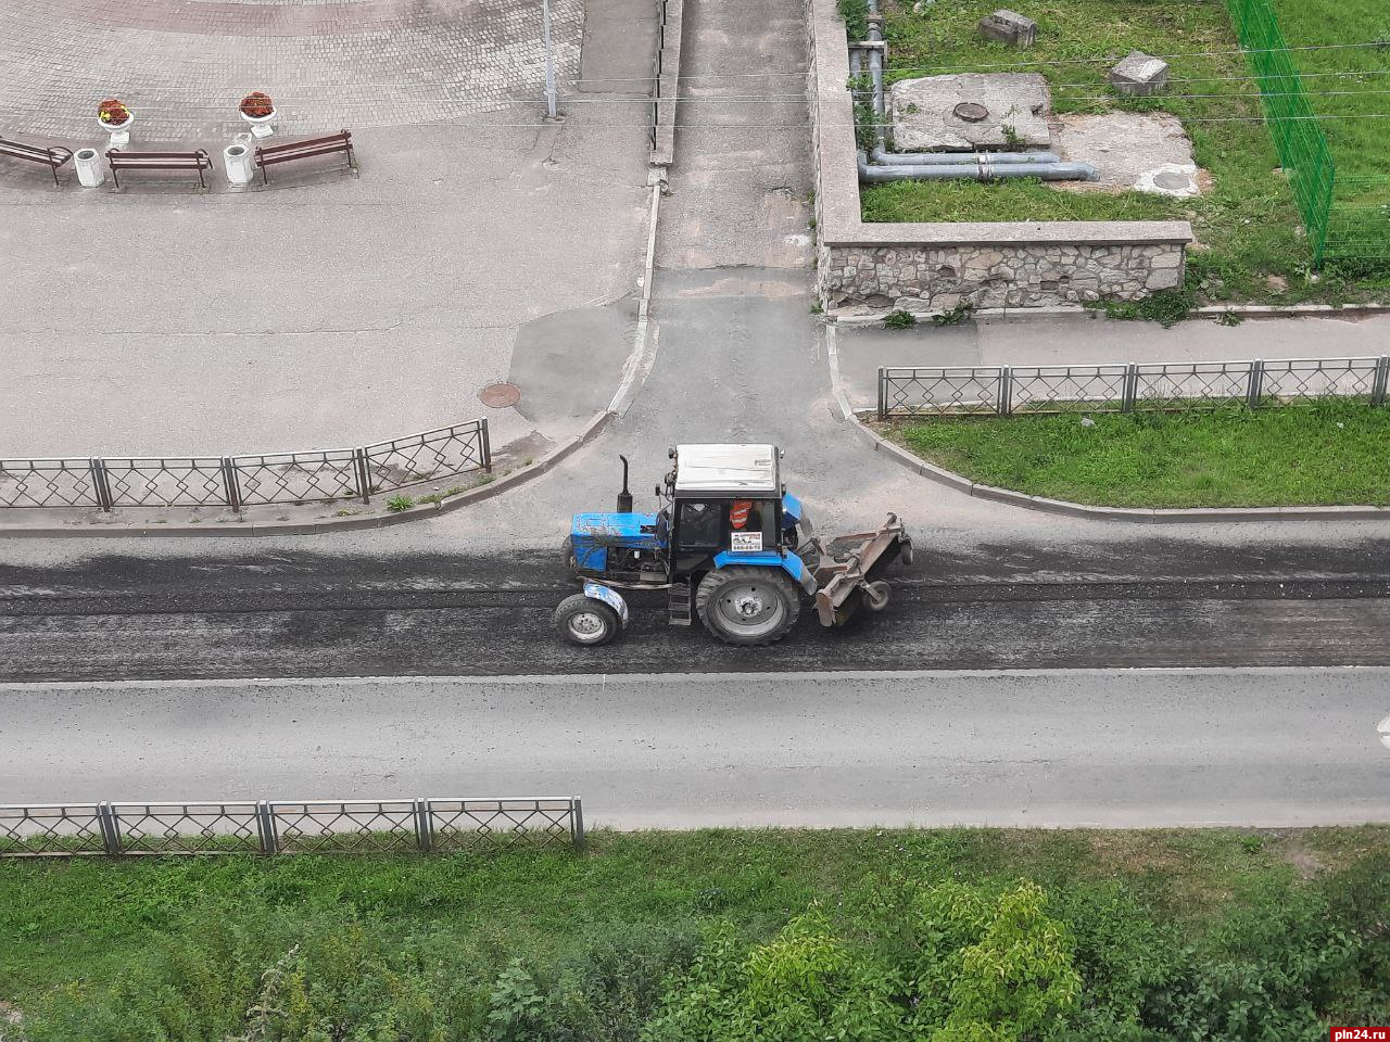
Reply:
<svg viewBox="0 0 1390 1042"><path fill-rule="evenodd" d="M0 806L0 857L584 847L577 796Z"/></svg>

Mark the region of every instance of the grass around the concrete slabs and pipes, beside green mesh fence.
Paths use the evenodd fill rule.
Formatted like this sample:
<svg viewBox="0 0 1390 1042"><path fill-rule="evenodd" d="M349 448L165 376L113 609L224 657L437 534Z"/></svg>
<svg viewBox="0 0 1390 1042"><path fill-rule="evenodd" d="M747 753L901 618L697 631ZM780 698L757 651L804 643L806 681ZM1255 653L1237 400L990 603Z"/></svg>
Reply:
<svg viewBox="0 0 1390 1042"><path fill-rule="evenodd" d="M1354 0L1369 10L1375 0ZM887 6L890 79L934 71L991 71L1017 63L1047 76L1058 113L1112 108L1165 110L1184 122L1195 163L1212 175L1212 192L1165 199L1127 192L1059 192L1040 182L898 182L862 189L866 221L1098 221L1187 220L1198 239L1190 257L1190 288L1207 300L1351 301L1376 296L1390 282L1358 282L1333 271L1309 278L1311 250L1262 117L1259 94L1238 51L1225 0L1049 0L1023 8L1038 22L1038 43L1026 53L983 40L977 21L990 0L937 3L915 14L910 3ZM1366 26L1347 24L1341 0L1286 0L1323 35L1351 38ZM1314 13L1314 8L1319 8ZM1333 17L1336 14L1336 17ZM1301 28L1301 21L1291 26ZM1290 33L1291 35L1291 33ZM1122 100L1106 88L1109 67L1130 50L1172 54L1166 96ZM1327 51L1329 63L1344 60ZM1340 56L1340 57L1334 57ZM1358 61L1386 68L1380 51ZM1390 85L1384 79L1382 88ZM1322 99L1314 99L1315 104ZM1375 100L1390 100L1390 94ZM1390 111L1390 106L1383 108ZM1204 122L1250 117L1251 122ZM1366 128L1364 135L1373 132ZM1384 167L1368 151L1365 167ZM1270 281L1269 276L1277 276Z"/></svg>

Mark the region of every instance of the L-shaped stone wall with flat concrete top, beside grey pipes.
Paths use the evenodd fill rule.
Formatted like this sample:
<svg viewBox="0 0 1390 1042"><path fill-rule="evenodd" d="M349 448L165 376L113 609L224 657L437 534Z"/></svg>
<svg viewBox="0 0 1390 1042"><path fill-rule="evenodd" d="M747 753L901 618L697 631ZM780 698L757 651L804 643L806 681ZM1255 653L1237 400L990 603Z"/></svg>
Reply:
<svg viewBox="0 0 1390 1042"><path fill-rule="evenodd" d="M940 311L1138 300L1183 282L1186 221L866 224L835 0L806 0L817 286L827 308Z"/></svg>

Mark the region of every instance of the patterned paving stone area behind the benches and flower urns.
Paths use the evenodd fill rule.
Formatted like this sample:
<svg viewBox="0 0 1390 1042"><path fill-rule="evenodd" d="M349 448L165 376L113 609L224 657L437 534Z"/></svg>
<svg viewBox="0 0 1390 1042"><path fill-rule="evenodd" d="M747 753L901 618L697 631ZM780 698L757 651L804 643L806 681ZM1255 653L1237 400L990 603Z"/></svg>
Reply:
<svg viewBox="0 0 1390 1042"><path fill-rule="evenodd" d="M584 3L550 6L573 83ZM70 146L104 140L111 96L139 147L245 131L250 90L296 136L513 108L530 122L545 83L539 0L6 0L0 54L0 133Z"/></svg>

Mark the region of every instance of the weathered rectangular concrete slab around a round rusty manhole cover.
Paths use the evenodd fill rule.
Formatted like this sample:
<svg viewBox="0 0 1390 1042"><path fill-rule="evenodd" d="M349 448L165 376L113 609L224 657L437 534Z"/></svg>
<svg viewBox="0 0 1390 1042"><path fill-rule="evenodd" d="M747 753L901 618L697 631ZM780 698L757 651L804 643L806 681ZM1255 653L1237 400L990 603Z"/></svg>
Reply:
<svg viewBox="0 0 1390 1042"><path fill-rule="evenodd" d="M983 106L976 121L956 106ZM1052 96L1037 72L962 72L902 79L890 90L892 140L898 151L970 151L974 149L1045 149Z"/></svg>

